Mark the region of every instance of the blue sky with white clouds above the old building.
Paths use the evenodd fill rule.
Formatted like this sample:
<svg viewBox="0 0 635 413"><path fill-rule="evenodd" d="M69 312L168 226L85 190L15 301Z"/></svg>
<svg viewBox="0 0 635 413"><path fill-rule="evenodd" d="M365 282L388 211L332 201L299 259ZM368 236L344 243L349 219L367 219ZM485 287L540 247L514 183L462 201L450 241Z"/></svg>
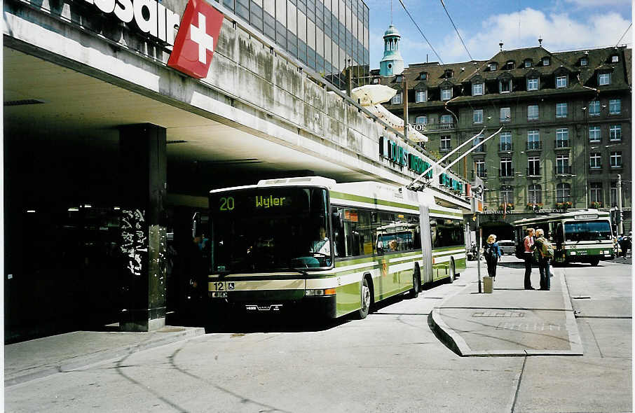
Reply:
<svg viewBox="0 0 635 413"><path fill-rule="evenodd" d="M364 1L370 11L370 67L378 69L383 33L391 22L391 0ZM400 52L406 65L426 62L426 55L429 62L486 60L500 50L501 41L503 49L511 50L538 46L542 38L542 47L558 52L614 46L626 31L620 44L633 45L633 28L627 31L631 0L443 0L467 51L442 0L402 2L432 45L400 0L392 0L392 24L402 36Z"/></svg>

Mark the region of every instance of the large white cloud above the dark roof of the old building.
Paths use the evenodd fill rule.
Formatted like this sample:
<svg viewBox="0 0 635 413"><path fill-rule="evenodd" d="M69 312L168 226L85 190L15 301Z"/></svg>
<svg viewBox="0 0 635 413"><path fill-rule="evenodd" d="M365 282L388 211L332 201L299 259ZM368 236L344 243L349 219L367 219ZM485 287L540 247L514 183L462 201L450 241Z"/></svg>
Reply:
<svg viewBox="0 0 635 413"><path fill-rule="evenodd" d="M567 13L545 15L540 10L526 8L520 12L493 15L482 23L482 30L478 33L466 36L461 32L461 36L474 59L489 59L498 52L499 41L503 41L504 49L511 50L538 46L538 38L542 38L542 46L552 52L615 45L630 24L617 13L594 14L587 19L578 21ZM630 39L627 34L622 43ZM444 62L469 59L456 34L446 37L439 53Z"/></svg>

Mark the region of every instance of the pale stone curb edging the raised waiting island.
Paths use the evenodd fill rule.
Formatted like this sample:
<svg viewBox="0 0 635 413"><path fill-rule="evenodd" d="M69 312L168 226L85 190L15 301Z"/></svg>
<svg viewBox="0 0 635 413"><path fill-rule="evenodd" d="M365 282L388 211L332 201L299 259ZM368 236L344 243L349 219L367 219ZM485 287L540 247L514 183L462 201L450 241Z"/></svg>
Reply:
<svg viewBox="0 0 635 413"><path fill-rule="evenodd" d="M442 307L444 300L438 307L435 307L430 311L428 315L428 325L435 335L439 337L439 340L445 344L449 349L457 353L461 357L524 357L524 356L583 356L584 349L582 341L580 339L580 332L578 331L578 323L575 321L573 314L573 307L571 305L571 297L569 296L568 286L566 285L566 278L564 276L564 269L559 274L560 283L562 285L562 295L564 299L564 307L566 314L566 328L569 335L569 342L571 350L477 350L470 349L465 339L461 337L456 331L450 328L442 319L439 310L444 309ZM468 285L469 286L469 285ZM467 286L465 287L467 288ZM449 297L448 297L449 298Z"/></svg>

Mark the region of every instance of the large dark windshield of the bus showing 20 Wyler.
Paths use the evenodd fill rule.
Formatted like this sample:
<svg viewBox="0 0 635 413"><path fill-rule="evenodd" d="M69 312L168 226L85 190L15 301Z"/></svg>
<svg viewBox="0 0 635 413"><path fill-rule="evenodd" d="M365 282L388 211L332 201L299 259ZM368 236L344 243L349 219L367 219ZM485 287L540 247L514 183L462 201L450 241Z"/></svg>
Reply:
<svg viewBox="0 0 635 413"><path fill-rule="evenodd" d="M332 265L327 191L256 188L210 194L213 272Z"/></svg>

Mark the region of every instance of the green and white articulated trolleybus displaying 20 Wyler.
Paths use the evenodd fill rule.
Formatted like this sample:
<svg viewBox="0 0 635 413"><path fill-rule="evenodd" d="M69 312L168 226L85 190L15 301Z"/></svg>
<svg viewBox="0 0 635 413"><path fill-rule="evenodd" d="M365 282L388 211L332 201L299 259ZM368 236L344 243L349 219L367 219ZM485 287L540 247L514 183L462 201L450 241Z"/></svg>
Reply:
<svg viewBox="0 0 635 413"><path fill-rule="evenodd" d="M320 176L212 190L212 308L364 318L375 302L452 282L465 269L463 215L428 197Z"/></svg>

